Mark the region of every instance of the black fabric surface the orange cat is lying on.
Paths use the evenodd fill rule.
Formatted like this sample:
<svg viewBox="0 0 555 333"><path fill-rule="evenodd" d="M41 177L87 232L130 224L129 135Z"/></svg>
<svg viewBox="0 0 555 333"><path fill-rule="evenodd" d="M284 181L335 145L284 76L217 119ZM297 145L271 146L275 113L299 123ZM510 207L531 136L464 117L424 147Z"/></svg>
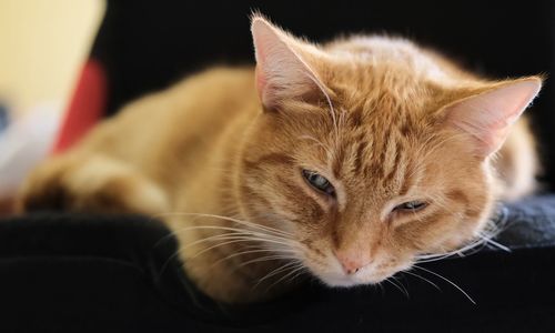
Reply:
<svg viewBox="0 0 555 333"><path fill-rule="evenodd" d="M555 325L555 196L500 210L505 231L465 258L397 283L331 290L309 281L238 309L198 291L151 219L42 213L0 223L2 332L549 332ZM432 285L435 284L437 289ZM405 289L406 291L402 291Z"/></svg>

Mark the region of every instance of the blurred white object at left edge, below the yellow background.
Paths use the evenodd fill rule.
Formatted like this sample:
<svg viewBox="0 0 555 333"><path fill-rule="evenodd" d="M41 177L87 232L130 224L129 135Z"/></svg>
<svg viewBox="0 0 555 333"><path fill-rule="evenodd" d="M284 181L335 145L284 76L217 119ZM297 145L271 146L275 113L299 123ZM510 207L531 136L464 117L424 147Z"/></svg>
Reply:
<svg viewBox="0 0 555 333"><path fill-rule="evenodd" d="M60 108L58 102L39 104L0 132L0 199L12 196L51 151L63 113Z"/></svg>

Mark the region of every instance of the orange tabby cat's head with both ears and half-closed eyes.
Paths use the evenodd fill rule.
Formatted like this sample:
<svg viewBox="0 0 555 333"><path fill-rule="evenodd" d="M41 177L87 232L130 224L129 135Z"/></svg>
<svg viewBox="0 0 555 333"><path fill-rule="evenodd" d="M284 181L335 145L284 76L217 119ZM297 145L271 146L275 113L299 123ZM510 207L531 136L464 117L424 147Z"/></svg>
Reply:
<svg viewBox="0 0 555 333"><path fill-rule="evenodd" d="M541 79L484 81L390 38L315 46L255 16L262 112L239 172L244 215L329 285L380 282L462 246L493 204L491 157Z"/></svg>

